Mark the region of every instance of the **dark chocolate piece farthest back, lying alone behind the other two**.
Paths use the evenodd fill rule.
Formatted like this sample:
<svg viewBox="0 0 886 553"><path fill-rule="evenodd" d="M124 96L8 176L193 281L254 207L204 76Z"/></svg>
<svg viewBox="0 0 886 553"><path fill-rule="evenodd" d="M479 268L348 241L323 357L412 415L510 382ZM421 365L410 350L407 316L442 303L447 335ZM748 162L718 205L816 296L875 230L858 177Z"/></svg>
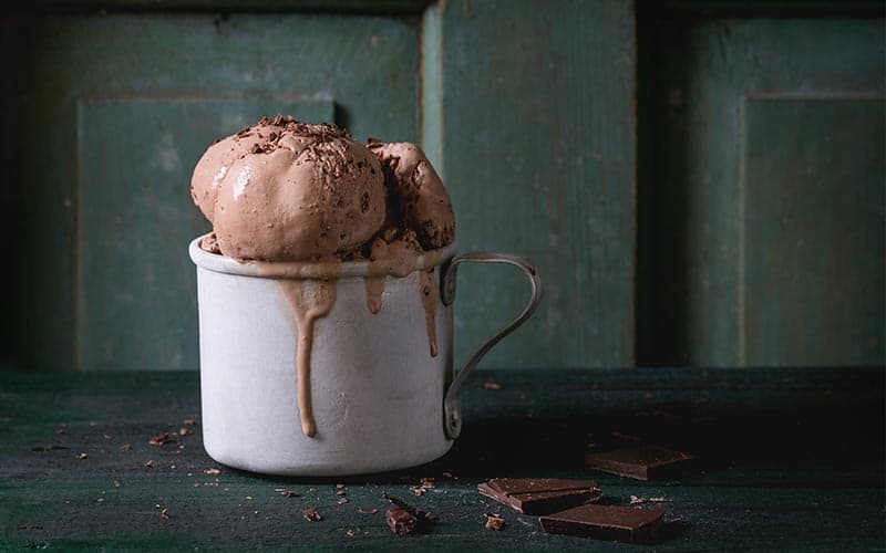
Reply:
<svg viewBox="0 0 886 553"><path fill-rule="evenodd" d="M658 446L616 449L585 457L589 469L637 480L677 478L686 473L692 456Z"/></svg>

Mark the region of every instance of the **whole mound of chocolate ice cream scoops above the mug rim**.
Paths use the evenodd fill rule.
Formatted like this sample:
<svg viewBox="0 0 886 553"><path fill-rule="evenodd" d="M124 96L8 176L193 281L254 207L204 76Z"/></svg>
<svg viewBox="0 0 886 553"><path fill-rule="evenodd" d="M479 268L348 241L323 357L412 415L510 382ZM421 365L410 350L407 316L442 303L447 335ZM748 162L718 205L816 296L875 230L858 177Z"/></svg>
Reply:
<svg viewBox="0 0 886 553"><path fill-rule="evenodd" d="M455 238L449 195L421 148L367 147L328 123L262 117L212 145L190 189L213 223L203 248L238 261L378 261Z"/></svg>

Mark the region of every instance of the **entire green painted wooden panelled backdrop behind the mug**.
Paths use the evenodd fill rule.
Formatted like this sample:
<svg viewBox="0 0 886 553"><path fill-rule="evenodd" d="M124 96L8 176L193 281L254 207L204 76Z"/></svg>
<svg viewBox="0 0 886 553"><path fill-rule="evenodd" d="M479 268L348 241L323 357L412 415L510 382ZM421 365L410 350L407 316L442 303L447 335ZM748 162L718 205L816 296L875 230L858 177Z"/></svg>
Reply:
<svg viewBox="0 0 886 553"><path fill-rule="evenodd" d="M486 366L882 365L882 7L739 4L6 14L0 363L196 368L189 174L280 112L421 142L460 249L536 262L545 303ZM526 295L506 268L460 281L456 363Z"/></svg>

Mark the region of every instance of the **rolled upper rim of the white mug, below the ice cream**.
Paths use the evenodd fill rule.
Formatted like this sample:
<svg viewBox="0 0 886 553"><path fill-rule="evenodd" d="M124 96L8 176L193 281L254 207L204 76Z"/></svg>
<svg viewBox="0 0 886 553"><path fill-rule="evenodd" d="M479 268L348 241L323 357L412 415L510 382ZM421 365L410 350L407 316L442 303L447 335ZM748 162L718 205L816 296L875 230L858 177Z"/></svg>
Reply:
<svg viewBox="0 0 886 553"><path fill-rule="evenodd" d="M237 261L222 253L212 253L200 248L200 241L209 232L193 239L188 244L190 260L197 267L209 271L255 276L264 279L340 279L349 276L385 276L393 271L389 263L360 261ZM443 248L425 251L418 255L415 271L433 269L455 257L456 246L453 241Z"/></svg>

